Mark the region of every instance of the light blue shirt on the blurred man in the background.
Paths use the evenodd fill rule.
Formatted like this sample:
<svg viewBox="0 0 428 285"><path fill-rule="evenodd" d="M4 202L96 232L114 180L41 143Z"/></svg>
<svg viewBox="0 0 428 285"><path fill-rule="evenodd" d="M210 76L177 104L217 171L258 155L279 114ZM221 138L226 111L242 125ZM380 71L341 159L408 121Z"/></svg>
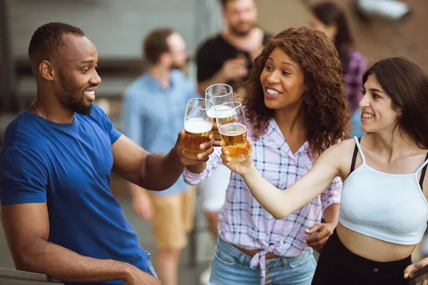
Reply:
<svg viewBox="0 0 428 285"><path fill-rule="evenodd" d="M149 152L168 153L184 128L188 100L196 97L200 95L195 86L181 71L171 71L168 89L146 73L125 91L123 133ZM188 189L183 179L178 179L168 190L154 193L172 195Z"/></svg>

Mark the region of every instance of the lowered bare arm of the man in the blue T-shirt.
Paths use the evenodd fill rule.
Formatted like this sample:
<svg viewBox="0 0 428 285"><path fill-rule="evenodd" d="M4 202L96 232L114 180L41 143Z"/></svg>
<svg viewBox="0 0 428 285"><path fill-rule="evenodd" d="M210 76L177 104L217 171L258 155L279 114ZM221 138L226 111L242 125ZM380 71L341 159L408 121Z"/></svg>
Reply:
<svg viewBox="0 0 428 285"><path fill-rule="evenodd" d="M127 281L138 270L120 261L83 257L48 242L49 216L46 203L3 206L1 222L18 270L47 274L54 279L72 282ZM151 278L142 271L138 274Z"/></svg>

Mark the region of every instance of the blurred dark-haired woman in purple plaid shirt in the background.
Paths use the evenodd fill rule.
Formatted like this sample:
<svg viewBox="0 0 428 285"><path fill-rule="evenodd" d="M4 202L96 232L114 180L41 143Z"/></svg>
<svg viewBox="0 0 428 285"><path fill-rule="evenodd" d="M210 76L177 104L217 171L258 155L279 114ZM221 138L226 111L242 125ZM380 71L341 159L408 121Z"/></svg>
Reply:
<svg viewBox="0 0 428 285"><path fill-rule="evenodd" d="M342 63L347 100L350 102L351 137L360 137L364 133L361 130L361 109L358 103L362 98L362 75L367 69L367 60L355 49L345 13L336 4L327 1L312 6L309 26L324 32L335 43Z"/></svg>

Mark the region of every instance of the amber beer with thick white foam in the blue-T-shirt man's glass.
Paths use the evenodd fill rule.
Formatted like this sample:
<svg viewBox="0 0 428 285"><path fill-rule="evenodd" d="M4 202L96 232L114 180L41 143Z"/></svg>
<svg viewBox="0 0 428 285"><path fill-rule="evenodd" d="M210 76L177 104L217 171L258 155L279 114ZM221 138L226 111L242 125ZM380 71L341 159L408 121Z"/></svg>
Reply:
<svg viewBox="0 0 428 285"><path fill-rule="evenodd" d="M183 142L183 155L192 160L198 160L200 144L208 140L213 124L202 118L192 118L184 122L185 138Z"/></svg>

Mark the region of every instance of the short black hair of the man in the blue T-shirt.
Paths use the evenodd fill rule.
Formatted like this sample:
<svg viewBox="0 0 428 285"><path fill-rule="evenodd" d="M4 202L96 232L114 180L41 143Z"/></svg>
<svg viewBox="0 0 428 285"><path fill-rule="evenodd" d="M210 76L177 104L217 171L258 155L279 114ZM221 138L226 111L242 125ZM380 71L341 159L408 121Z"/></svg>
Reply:
<svg viewBox="0 0 428 285"><path fill-rule="evenodd" d="M55 56L55 53L65 46L64 33L85 36L80 28L64 23L54 22L37 28L29 45L30 62L39 64L41 61Z"/></svg>

